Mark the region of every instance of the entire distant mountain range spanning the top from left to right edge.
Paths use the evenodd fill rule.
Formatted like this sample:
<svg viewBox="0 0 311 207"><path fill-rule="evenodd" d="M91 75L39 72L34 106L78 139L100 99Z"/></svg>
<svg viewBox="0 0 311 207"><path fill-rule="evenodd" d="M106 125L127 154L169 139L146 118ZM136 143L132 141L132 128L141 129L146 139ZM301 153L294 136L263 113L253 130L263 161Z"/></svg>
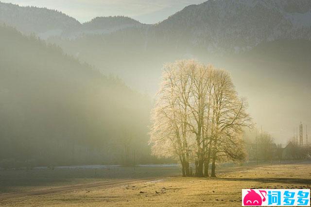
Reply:
<svg viewBox="0 0 311 207"><path fill-rule="evenodd" d="M0 21L41 38L144 33L146 47L203 49L212 53L247 51L260 42L311 39L310 0L207 0L190 5L154 25L129 17L96 17L80 24L46 8L0 3ZM127 39L127 33L123 33ZM124 41L121 39L120 41Z"/></svg>

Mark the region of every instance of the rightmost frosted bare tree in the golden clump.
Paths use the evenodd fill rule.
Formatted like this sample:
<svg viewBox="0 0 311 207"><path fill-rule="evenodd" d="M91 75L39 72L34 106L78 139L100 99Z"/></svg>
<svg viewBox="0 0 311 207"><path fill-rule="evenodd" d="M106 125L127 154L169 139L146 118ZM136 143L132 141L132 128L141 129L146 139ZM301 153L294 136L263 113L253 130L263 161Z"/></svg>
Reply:
<svg viewBox="0 0 311 207"><path fill-rule="evenodd" d="M230 74L225 70L216 70L213 77L214 94L212 97L214 99L213 112L215 126L212 137L211 176L215 176L217 153L220 151L219 148L222 147L220 141L231 142L232 145L235 145L237 139L234 139L235 137L231 135L238 135L242 133L243 127L252 126L251 118L246 113L246 100L238 98ZM228 136L229 134L231 135ZM221 140L221 138L225 138L225 140ZM227 150L223 150L223 152L225 151Z"/></svg>

